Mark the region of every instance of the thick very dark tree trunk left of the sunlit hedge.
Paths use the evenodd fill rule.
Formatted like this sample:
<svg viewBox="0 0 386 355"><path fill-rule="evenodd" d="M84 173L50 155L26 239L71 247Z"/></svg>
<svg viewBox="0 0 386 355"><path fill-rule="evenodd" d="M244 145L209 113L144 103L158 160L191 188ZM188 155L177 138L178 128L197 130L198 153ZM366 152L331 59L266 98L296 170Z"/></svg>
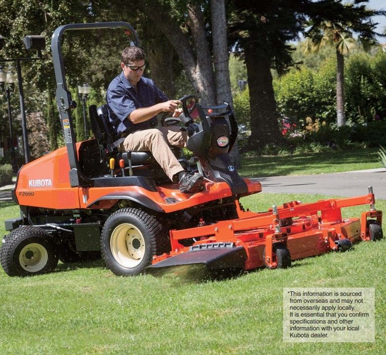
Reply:
<svg viewBox="0 0 386 355"><path fill-rule="evenodd" d="M251 105L251 135L247 149L259 150L266 144L280 144L278 113L272 86L270 58L262 57L260 49L245 48L249 101Z"/></svg>

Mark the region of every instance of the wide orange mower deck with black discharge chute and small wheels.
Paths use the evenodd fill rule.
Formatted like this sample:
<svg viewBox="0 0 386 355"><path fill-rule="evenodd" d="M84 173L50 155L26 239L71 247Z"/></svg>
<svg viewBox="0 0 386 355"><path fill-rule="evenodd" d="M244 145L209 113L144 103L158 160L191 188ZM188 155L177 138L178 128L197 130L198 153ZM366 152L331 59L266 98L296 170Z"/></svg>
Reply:
<svg viewBox="0 0 386 355"><path fill-rule="evenodd" d="M364 196L305 204L291 201L264 213L245 212L235 203L238 219L171 230L172 252L154 257L147 269L198 263L209 269L285 268L291 260L331 250L344 252L354 242L383 238L382 212L375 209L371 187ZM342 218L341 208L362 204L368 204L369 211L360 218ZM184 247L184 239L195 242Z"/></svg>

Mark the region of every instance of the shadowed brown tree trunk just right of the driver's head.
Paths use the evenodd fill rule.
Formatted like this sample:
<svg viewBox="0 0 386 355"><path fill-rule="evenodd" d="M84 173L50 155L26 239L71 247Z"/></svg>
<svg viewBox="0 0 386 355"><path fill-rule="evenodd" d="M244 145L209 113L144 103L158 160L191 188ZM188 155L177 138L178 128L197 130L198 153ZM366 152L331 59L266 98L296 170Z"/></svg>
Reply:
<svg viewBox="0 0 386 355"><path fill-rule="evenodd" d="M158 37L150 42L146 53L151 67L152 79L167 97L175 99L172 51L173 48L170 43Z"/></svg>

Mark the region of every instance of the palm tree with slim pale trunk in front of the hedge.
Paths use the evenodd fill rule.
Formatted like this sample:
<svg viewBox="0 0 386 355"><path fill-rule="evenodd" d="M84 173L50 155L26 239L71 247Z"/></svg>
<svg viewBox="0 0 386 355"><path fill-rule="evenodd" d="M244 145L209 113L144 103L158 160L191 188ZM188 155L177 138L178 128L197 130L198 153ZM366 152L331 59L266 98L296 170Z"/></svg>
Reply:
<svg viewBox="0 0 386 355"><path fill-rule="evenodd" d="M341 4L336 1L329 4L327 12L310 14L307 23L309 29L305 32L303 50L305 53L318 52L322 47L331 45L336 50L336 115L337 125L346 124L345 96L344 96L344 56L355 46L354 33L358 42L365 50L377 42L373 23L374 15L385 15L385 11L371 10L362 2L368 0L355 0L353 3ZM326 20L328 18L328 20Z"/></svg>

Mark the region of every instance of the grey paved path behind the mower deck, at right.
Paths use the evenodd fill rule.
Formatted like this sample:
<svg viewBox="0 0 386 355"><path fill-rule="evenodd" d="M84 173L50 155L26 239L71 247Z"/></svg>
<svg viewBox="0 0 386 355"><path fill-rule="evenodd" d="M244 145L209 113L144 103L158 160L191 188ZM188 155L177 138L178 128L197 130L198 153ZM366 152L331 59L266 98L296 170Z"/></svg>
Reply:
<svg viewBox="0 0 386 355"><path fill-rule="evenodd" d="M273 176L253 180L260 181L265 193L324 194L351 197L367 194L367 187L372 186L376 198L386 199L386 169Z"/></svg>

